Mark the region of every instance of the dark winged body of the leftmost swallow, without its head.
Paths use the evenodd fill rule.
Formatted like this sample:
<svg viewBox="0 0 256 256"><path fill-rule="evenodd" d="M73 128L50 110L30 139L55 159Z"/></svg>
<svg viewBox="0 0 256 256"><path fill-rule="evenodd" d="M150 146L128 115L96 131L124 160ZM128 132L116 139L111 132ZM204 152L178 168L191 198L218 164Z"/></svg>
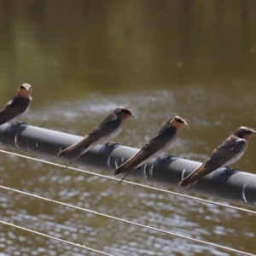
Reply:
<svg viewBox="0 0 256 256"><path fill-rule="evenodd" d="M28 108L29 104L29 99L15 95L15 97L0 110L0 125L14 119L20 113L23 113L26 108Z"/></svg>

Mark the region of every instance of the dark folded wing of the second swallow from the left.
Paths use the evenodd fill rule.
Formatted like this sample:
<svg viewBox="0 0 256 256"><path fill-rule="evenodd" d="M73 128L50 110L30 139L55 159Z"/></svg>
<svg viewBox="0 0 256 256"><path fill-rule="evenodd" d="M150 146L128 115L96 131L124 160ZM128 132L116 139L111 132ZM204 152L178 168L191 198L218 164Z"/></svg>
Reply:
<svg viewBox="0 0 256 256"><path fill-rule="evenodd" d="M120 121L119 119L115 118L114 114L108 115L108 117L104 119L100 125L97 125L95 129L90 131L85 137L79 140L79 142L65 148L59 152L58 155L61 156L72 151L78 151L80 152L80 155L84 154L92 143L96 143L100 137L108 136L109 133L113 132L119 127L119 124Z"/></svg>

